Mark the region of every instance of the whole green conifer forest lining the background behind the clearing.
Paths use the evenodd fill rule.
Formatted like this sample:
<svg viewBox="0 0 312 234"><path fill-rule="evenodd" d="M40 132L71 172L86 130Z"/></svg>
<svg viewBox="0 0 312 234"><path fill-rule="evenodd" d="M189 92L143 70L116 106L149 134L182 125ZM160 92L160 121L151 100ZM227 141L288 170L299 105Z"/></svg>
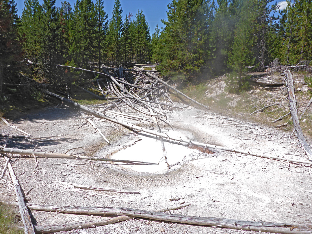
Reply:
<svg viewBox="0 0 312 234"><path fill-rule="evenodd" d="M70 82L56 64L101 71L156 63L163 76L186 82L230 72L229 90L239 92L248 85L248 68L264 71L274 59L283 65L312 60L310 0L288 0L279 14L272 0L173 0L152 37L144 12L122 18L119 0L110 19L103 0L77 0L73 8L55 2L25 0L18 17L15 0L1 0L2 94L14 92L3 84L25 83L25 76Z"/></svg>

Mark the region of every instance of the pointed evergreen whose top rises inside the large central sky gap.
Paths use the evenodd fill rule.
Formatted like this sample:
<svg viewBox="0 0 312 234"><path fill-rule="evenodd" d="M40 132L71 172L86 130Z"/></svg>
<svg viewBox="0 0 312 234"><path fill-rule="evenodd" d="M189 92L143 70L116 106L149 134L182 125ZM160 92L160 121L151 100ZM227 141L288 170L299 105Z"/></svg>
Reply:
<svg viewBox="0 0 312 234"><path fill-rule="evenodd" d="M149 25L145 20L143 11L138 11L135 16L134 22L135 31L135 52L136 52L136 62L146 63L150 58L150 40L149 35Z"/></svg>

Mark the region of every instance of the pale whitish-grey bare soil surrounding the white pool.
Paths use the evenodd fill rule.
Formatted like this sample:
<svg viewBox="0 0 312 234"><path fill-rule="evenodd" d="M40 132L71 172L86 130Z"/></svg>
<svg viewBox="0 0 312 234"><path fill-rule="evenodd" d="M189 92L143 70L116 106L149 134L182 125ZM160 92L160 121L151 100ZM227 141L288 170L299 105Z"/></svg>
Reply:
<svg viewBox="0 0 312 234"><path fill-rule="evenodd" d="M95 133L90 124L85 124L85 119L79 118L78 112L66 106L53 107L26 114L11 123L33 136L69 137L70 140L67 141L41 142L37 145L36 150L56 153L65 153L68 149L82 147L76 149L75 154L110 156L111 152L123 148L127 142L138 137L117 124L93 119L97 127L112 142L112 146L109 146L100 134ZM265 126L226 125L241 123L241 120L235 119L237 122L234 122L196 108L168 113L168 121L189 138L207 144L273 156L285 155L288 159L307 160L295 137L284 137L285 133ZM133 123L139 124L134 121ZM168 126L165 128L169 129ZM1 122L0 133L7 134L9 131L10 134L21 135ZM1 137L1 145L5 140ZM33 149L36 144L35 141L32 144L11 138L7 147ZM149 161L149 151L153 149L144 150L145 161ZM132 159L131 156L129 155L129 160ZM217 154L204 154L198 151L187 155L173 166L168 174L132 172L114 164L90 163L74 159L37 158L37 161L38 166L34 158L17 158L12 163L22 189L26 192L33 188L26 195L30 203L129 207L153 211L185 201L191 205L172 213L304 224L312 228L312 172L304 165L287 165L275 160L221 151ZM4 162L5 160L0 158L1 169ZM75 183L139 191L141 194L82 190L74 188L72 184ZM15 201L14 189L7 175L0 181L0 188L1 200ZM112 197L91 195L93 192ZM169 201L169 198L177 196L183 199ZM32 216L36 225L101 219L95 216L37 211L32 211ZM162 227L165 233L246 233L230 229L150 222L143 219L67 233L159 233L163 231Z"/></svg>

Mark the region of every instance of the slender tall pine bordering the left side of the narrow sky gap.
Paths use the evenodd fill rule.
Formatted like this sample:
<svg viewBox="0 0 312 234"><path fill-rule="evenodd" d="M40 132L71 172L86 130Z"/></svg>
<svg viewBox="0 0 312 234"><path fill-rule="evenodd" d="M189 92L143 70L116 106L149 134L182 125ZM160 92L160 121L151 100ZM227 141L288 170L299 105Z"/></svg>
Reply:
<svg viewBox="0 0 312 234"><path fill-rule="evenodd" d="M96 16L96 40L95 45L97 46L96 59L99 61L99 71L102 67L103 59L103 43L105 41L105 35L108 24L108 14L104 11L104 3L102 0L96 0L95 2L95 16ZM106 47L106 46L105 46Z"/></svg>

